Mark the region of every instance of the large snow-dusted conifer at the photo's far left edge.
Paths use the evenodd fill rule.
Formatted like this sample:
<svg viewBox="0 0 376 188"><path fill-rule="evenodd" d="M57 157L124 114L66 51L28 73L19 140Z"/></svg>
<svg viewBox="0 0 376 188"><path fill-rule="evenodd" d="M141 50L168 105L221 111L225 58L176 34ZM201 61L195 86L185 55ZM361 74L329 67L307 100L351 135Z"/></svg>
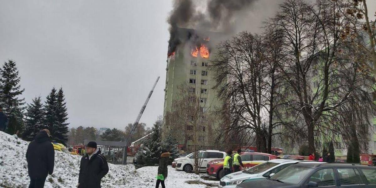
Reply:
<svg viewBox="0 0 376 188"><path fill-rule="evenodd" d="M26 107L25 99L18 99L25 89L19 85L21 77L18 76L16 63L12 60L4 62L0 69L0 108L8 116L9 134L21 133L24 129L23 111Z"/></svg>

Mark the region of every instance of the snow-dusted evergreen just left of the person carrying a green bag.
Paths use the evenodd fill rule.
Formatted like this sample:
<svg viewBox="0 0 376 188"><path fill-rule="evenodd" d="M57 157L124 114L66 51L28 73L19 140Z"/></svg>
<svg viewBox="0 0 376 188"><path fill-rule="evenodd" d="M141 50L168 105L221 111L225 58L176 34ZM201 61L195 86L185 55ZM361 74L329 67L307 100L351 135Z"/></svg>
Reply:
<svg viewBox="0 0 376 188"><path fill-rule="evenodd" d="M136 168L158 164L161 155L161 126L162 120L157 120L152 128L152 134L145 139L136 157Z"/></svg>

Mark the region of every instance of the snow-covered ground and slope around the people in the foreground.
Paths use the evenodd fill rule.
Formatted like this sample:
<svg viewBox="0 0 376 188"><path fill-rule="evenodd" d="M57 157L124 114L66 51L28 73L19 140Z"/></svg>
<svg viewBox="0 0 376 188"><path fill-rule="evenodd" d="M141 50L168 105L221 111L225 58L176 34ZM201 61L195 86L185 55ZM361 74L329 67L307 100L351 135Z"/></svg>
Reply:
<svg viewBox="0 0 376 188"><path fill-rule="evenodd" d="M26 188L29 185L26 150L29 142L0 132L0 187ZM55 169L47 177L45 188L74 188L78 182L80 156L55 151ZM135 170L132 164L109 164L109 173L102 179L102 188L155 187L158 167ZM209 179L209 180L206 180ZM209 188L218 181L204 174L187 174L168 167L167 188ZM161 187L161 186L160 186Z"/></svg>

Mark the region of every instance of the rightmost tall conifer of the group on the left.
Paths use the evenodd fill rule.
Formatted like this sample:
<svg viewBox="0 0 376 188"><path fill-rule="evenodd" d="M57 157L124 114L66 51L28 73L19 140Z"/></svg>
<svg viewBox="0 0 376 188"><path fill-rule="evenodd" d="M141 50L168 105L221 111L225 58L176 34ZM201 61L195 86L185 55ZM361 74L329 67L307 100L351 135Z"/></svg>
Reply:
<svg viewBox="0 0 376 188"><path fill-rule="evenodd" d="M69 123L67 123L68 113L63 88L60 88L58 91L55 108L56 120L58 124L54 128L53 136L56 141L65 145L68 141Z"/></svg>

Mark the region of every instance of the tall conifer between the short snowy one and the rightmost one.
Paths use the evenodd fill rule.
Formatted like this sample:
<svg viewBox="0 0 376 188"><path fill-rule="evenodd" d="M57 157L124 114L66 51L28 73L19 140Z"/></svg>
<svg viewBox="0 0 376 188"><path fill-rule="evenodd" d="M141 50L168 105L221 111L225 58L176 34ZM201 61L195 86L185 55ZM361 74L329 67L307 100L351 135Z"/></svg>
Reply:
<svg viewBox="0 0 376 188"><path fill-rule="evenodd" d="M52 141L59 142L59 138L56 137L56 130L58 129L59 121L58 115L56 112L56 105L57 105L57 94L55 87L52 88L50 94L46 97L46 102L44 105L44 128L50 130Z"/></svg>

